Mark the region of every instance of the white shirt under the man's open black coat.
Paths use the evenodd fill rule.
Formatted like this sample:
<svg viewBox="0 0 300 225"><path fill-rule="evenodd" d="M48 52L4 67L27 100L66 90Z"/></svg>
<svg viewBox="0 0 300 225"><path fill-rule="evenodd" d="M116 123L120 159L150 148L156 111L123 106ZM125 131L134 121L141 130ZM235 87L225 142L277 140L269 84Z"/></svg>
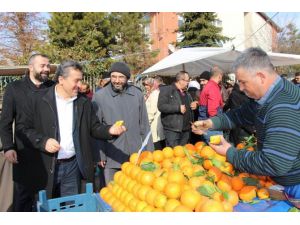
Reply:
<svg viewBox="0 0 300 225"><path fill-rule="evenodd" d="M73 102L77 98L65 100L55 90L56 108L58 115L60 150L58 159L68 159L75 155L73 142Z"/></svg>

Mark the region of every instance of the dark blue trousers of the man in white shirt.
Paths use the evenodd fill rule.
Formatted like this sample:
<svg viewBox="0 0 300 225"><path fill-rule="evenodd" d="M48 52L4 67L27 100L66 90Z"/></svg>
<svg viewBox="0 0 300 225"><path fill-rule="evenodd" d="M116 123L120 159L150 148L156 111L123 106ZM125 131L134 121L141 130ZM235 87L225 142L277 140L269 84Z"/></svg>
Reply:
<svg viewBox="0 0 300 225"><path fill-rule="evenodd" d="M54 174L53 198L80 193L81 175L77 160L56 163Z"/></svg>

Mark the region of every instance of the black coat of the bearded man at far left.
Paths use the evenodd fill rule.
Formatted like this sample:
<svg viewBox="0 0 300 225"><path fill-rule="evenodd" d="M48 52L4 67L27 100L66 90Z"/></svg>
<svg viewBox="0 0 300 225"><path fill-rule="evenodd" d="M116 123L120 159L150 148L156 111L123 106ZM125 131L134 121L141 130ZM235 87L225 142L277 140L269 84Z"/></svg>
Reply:
<svg viewBox="0 0 300 225"><path fill-rule="evenodd" d="M37 88L25 76L20 80L11 82L7 85L2 104L2 115L0 120L0 136L3 144L3 150L14 149L17 152L18 163L13 164L13 180L23 184L30 189L34 189L35 180L40 179L36 173L39 168L40 156L31 148L28 141L23 141L19 133L13 132L13 123L18 126L23 114L23 107L28 99L28 95L35 95L41 89L53 85L53 81L47 81Z"/></svg>

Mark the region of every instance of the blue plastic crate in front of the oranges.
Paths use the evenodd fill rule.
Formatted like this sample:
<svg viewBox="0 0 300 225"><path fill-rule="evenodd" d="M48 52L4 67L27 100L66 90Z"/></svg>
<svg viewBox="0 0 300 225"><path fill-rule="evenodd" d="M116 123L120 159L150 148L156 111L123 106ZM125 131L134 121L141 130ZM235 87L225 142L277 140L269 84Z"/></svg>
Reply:
<svg viewBox="0 0 300 225"><path fill-rule="evenodd" d="M93 185L86 184L86 193L47 200L46 191L39 192L39 212L111 212L99 194L93 193Z"/></svg>

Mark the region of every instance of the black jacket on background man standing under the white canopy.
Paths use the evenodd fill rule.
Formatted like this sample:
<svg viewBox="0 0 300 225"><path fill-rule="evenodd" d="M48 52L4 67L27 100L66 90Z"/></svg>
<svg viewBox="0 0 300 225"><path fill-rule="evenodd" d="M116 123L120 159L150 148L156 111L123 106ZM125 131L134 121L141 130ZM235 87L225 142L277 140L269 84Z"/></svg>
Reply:
<svg viewBox="0 0 300 225"><path fill-rule="evenodd" d="M191 95L188 96L189 105L193 101ZM164 129L181 132L183 129L183 114L180 112L180 105L183 105L175 84L163 86L160 88L157 107L161 112L161 122ZM186 113L191 113L190 118L193 119L193 112L189 108Z"/></svg>

